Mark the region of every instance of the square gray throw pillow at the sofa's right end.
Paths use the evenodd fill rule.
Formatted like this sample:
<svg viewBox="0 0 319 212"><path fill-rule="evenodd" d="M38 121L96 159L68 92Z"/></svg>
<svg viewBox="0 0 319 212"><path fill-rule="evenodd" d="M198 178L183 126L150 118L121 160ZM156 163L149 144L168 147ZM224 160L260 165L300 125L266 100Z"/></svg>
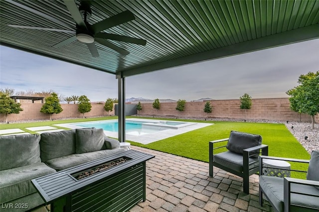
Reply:
<svg viewBox="0 0 319 212"><path fill-rule="evenodd" d="M105 148L103 129L76 129L75 153L95 152Z"/></svg>

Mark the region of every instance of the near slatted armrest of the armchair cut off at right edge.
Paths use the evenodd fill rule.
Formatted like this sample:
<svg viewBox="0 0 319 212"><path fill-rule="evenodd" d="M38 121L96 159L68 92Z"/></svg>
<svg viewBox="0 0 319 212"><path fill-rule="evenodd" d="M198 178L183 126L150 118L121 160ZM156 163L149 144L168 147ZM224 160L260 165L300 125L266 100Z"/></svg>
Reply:
<svg viewBox="0 0 319 212"><path fill-rule="evenodd" d="M313 181L313 180L303 180L303 179L296 179L296 178L290 178L285 177L284 178L284 209L285 212L289 212L292 207L299 207L299 208L311 208L314 210L318 210L319 208L314 208L314 206L304 206L299 204L292 204L291 203L291 194L298 194L299 198L309 198L309 197L316 197L319 198L319 191L318 192L311 192L309 193L302 193L300 191L292 191L291 185L292 184L299 184L299 185L305 185L305 186L318 186L319 187L319 181ZM318 189L318 188L316 188ZM315 191L317 191L315 189Z"/></svg>

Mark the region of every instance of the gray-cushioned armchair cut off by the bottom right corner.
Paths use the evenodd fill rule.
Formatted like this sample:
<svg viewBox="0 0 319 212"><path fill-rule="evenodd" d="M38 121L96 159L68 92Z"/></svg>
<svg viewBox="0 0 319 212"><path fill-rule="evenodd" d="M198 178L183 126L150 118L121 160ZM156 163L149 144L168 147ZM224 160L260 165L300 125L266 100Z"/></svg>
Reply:
<svg viewBox="0 0 319 212"><path fill-rule="evenodd" d="M307 180L290 177L263 175L263 159L309 163ZM319 211L319 150L313 151L310 160L260 156L259 160L259 204L263 206L263 195L275 212ZM291 170L306 172L301 170Z"/></svg>

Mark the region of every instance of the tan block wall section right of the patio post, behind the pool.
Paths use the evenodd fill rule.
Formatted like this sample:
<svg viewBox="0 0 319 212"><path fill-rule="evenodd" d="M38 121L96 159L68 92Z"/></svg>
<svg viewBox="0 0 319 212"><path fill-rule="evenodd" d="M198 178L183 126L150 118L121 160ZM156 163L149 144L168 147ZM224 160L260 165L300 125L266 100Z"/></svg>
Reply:
<svg viewBox="0 0 319 212"><path fill-rule="evenodd" d="M242 118L242 119L267 119L267 120L290 120L311 121L311 116L299 114L290 109L288 98L252 99L252 108L240 109L240 100L213 100L211 113L204 112L205 102L187 102L184 111L175 109L176 103L160 103L160 109L153 108L153 103L142 104L141 115L169 115L176 117L216 117L216 118ZM319 114L315 117L319 123Z"/></svg>

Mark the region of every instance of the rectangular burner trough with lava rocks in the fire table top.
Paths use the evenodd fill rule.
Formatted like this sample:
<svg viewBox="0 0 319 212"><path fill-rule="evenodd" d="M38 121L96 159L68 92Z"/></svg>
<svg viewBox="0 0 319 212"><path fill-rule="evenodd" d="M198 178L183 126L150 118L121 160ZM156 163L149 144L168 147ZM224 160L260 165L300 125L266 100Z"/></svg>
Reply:
<svg viewBox="0 0 319 212"><path fill-rule="evenodd" d="M103 163L101 165L92 167L90 169L82 170L80 172L76 172L74 174L71 174L72 177L74 177L76 180L82 180L84 178L90 177L91 175L95 175L99 172L103 172L107 169L110 169L114 166L118 166L122 163L125 163L126 161L131 160L132 158L128 157L121 157L115 160L108 161L107 163Z"/></svg>

